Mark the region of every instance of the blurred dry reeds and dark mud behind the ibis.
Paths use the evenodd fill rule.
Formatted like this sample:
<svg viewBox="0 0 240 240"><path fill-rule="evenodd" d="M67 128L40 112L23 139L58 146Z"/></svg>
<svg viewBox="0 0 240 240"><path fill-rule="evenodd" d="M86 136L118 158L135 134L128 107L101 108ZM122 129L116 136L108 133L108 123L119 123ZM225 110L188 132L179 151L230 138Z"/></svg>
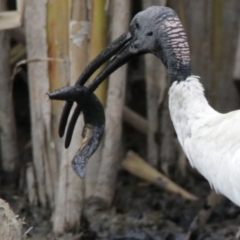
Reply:
<svg viewBox="0 0 240 240"><path fill-rule="evenodd" d="M239 109L238 0L0 0L4 240L234 239L240 210L189 165L169 116L168 74L154 56L133 59L97 89L106 129L84 180L71 167L82 117L68 149L58 136L64 102L46 93L74 85L152 5L177 12L210 105Z"/></svg>

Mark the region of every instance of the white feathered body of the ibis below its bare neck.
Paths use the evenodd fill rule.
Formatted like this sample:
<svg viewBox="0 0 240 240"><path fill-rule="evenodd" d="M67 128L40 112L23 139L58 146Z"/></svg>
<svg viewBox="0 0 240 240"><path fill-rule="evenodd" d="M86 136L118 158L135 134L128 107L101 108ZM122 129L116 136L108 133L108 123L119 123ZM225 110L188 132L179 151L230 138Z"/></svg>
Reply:
<svg viewBox="0 0 240 240"><path fill-rule="evenodd" d="M169 109L191 165L217 192L240 205L240 111L215 111L196 76L172 84Z"/></svg>

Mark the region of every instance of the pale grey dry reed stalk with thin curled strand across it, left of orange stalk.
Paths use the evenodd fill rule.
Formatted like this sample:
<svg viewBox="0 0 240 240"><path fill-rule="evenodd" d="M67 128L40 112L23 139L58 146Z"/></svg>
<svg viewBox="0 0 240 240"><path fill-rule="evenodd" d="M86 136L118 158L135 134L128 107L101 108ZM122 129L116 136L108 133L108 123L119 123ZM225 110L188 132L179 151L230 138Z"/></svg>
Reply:
<svg viewBox="0 0 240 240"><path fill-rule="evenodd" d="M33 10L34 9L34 10ZM51 102L46 101L45 93L50 89L48 74L48 43L46 39L47 8L44 1L26 0L25 29L27 41L28 79L31 101L31 127L33 146L33 166L36 176L38 201L45 207L54 205L55 186L58 175L56 145L51 136ZM61 16L62 17L62 16ZM63 65L63 64L62 64ZM66 78L64 79L66 81ZM50 144L52 143L52 144Z"/></svg>

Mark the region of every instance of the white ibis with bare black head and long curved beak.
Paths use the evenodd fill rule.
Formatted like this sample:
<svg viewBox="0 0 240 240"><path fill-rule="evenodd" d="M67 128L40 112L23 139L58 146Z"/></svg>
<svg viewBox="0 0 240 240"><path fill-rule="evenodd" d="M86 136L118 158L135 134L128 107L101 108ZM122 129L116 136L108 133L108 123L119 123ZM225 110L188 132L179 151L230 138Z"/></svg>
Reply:
<svg viewBox="0 0 240 240"><path fill-rule="evenodd" d="M170 8L153 6L138 13L131 21L129 32L109 45L89 64L76 85L70 87L85 89L81 91L81 96L72 94L67 88L49 95L51 99L67 100L59 128L60 136L64 135L73 101L78 102L69 124L66 146L70 143L81 109L83 114L86 109L88 112L92 111L91 107L95 103L92 101L88 106L88 99L97 86L130 59L146 53L157 56L168 69L171 119L191 165L209 181L212 188L240 205L240 111L221 114L209 106L199 77L191 73L186 34L177 14ZM114 55L90 86L84 88L82 85L90 75ZM68 94L62 94L64 91ZM98 109L103 111L100 107ZM95 116L93 112L91 117L96 118L93 125L97 125L97 114ZM101 121L102 119L100 118ZM104 122L100 125L104 126ZM86 139L83 139L85 147L91 145L94 134L90 135L87 143ZM95 141L95 148L98 142L96 144ZM73 169L79 176L85 173L87 159L84 158L86 154L82 154L83 152L78 152L73 159Z"/></svg>

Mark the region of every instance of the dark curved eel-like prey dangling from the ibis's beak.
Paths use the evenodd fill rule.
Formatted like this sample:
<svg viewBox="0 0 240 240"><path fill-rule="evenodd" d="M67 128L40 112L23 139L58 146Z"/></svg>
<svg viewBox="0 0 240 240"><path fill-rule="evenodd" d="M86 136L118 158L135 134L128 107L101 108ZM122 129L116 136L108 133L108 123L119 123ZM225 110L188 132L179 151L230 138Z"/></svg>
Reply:
<svg viewBox="0 0 240 240"><path fill-rule="evenodd" d="M85 99L86 87L71 86L48 93L51 100L76 102L84 117L81 147L72 161L72 168L81 178L85 176L89 158L97 150L104 133L104 109L98 98L91 94ZM74 114L74 113L73 113Z"/></svg>

